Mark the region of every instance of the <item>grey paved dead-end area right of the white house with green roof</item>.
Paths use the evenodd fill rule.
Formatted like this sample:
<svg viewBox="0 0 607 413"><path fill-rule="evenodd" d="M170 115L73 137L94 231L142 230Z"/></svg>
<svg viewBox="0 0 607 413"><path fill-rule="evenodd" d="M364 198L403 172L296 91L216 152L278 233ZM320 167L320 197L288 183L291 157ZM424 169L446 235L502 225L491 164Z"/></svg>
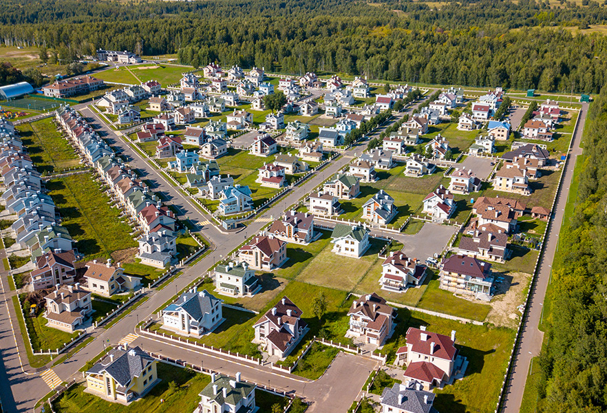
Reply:
<svg viewBox="0 0 607 413"><path fill-rule="evenodd" d="M418 233L400 235L396 238L405 244L402 251L407 257L417 258L424 262L427 257L432 257L435 253L442 253L456 230L455 226L426 222Z"/></svg>

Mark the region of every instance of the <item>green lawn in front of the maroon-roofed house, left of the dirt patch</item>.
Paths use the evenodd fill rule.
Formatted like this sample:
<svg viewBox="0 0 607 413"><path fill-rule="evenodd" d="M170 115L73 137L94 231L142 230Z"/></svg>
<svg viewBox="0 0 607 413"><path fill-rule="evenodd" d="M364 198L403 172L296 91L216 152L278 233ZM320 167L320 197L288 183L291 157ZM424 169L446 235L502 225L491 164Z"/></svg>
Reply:
<svg viewBox="0 0 607 413"><path fill-rule="evenodd" d="M429 273L427 277L431 275L432 273ZM487 318L491 306L456 297L450 291L438 288L438 284L438 276L430 279L428 287L418 303L419 308L477 321Z"/></svg>

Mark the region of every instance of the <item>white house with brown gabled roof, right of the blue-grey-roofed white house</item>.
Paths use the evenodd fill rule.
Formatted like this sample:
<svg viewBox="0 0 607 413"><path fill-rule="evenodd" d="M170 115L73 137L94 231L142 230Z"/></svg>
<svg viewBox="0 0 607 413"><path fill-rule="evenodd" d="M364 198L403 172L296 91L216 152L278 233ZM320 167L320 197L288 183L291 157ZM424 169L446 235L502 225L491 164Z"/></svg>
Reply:
<svg viewBox="0 0 607 413"><path fill-rule="evenodd" d="M293 301L282 297L253 324L255 339L270 356L284 359L295 348L301 337L308 332L302 312Z"/></svg>

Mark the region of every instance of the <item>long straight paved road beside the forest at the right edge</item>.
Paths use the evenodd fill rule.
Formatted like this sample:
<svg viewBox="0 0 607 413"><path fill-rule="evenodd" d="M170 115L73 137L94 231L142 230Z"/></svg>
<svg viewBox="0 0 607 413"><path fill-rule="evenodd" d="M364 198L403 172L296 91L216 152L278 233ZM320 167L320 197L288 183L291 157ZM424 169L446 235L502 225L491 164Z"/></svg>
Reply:
<svg viewBox="0 0 607 413"><path fill-rule="evenodd" d="M571 180L573 179L575 161L577 160L577 156L582 153L579 144L582 142L586 112L588 112L588 104L584 103L582 105L582 110L579 112L579 121L575 134L573 135L572 149L569 151L569 157L564 167L565 175L553 210L553 222L550 226L550 231L546 235L546 240L544 241L546 249L544 250L544 255L542 255L542 260L540 260L537 282L529 297L529 312L523 320L520 346L518 346L518 350L515 352L513 371L508 381L504 397L504 407L502 407L504 413L515 413L520 410L531 358L540 355L540 350L542 350L544 332L540 331L537 326L539 326L540 317L542 317L542 306L544 297L546 297L546 288L548 287L550 273L552 271L552 262L559 240L558 236L563 222L565 204L567 203L567 198L569 196L569 187L571 187Z"/></svg>

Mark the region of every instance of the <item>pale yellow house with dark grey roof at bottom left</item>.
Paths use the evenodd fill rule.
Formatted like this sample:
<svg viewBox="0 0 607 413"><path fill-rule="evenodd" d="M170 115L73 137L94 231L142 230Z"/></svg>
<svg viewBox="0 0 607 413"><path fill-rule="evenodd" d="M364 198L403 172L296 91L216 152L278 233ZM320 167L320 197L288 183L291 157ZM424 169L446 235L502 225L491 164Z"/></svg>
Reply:
<svg viewBox="0 0 607 413"><path fill-rule="evenodd" d="M160 381L156 363L139 347L115 348L86 372L87 392L109 401L129 403Z"/></svg>

